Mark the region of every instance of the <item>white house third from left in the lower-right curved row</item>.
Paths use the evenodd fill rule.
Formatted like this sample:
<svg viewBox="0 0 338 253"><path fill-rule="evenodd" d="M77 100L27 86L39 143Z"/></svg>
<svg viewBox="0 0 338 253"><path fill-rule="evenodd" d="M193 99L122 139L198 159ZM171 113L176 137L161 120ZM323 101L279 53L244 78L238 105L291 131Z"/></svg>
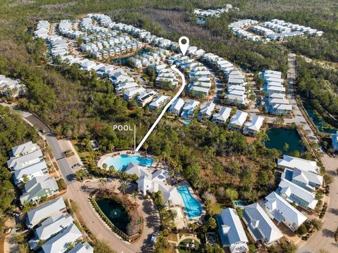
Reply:
<svg viewBox="0 0 338 253"><path fill-rule="evenodd" d="M308 219L275 192L265 197L263 207L271 219L284 223L292 231L296 231Z"/></svg>

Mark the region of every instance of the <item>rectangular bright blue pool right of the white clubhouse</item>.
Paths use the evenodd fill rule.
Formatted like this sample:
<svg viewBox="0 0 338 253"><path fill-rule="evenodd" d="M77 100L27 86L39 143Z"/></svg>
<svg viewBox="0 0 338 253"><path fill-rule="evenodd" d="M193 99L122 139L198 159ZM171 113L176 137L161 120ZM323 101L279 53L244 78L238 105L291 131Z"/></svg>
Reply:
<svg viewBox="0 0 338 253"><path fill-rule="evenodd" d="M188 186L181 186L177 188L177 190L178 193L180 193L183 206L185 211L187 212L188 218L192 219L201 216L202 214L201 203L194 197L192 197L192 193L190 193Z"/></svg>

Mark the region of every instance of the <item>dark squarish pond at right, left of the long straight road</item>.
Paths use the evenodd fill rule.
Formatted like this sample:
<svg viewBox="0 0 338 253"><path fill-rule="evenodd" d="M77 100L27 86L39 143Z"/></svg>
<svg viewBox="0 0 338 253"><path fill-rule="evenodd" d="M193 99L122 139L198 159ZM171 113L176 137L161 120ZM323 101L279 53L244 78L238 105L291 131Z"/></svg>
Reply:
<svg viewBox="0 0 338 253"><path fill-rule="evenodd" d="M270 139L265 141L266 148L275 148L281 150L282 153L292 153L295 150L299 152L305 151L301 144L301 137L296 129L271 128L266 131L266 134ZM285 143L289 145L287 150L284 150Z"/></svg>

